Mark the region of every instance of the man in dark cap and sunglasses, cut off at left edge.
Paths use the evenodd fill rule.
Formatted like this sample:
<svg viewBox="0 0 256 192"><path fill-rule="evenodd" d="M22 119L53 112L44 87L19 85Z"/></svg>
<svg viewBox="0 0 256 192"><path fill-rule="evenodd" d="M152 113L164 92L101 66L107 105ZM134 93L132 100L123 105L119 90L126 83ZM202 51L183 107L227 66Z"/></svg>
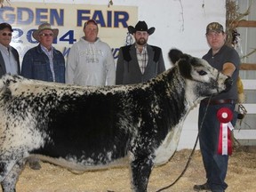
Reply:
<svg viewBox="0 0 256 192"><path fill-rule="evenodd" d="M6 73L20 75L19 53L10 45L12 32L10 24L0 24L0 77Z"/></svg>

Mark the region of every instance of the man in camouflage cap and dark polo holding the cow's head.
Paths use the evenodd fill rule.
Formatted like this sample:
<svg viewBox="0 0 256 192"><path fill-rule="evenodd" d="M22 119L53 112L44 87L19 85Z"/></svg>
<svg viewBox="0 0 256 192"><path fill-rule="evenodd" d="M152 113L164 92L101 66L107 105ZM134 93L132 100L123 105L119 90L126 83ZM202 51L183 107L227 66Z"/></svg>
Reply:
<svg viewBox="0 0 256 192"><path fill-rule="evenodd" d="M240 59L236 50L225 44L226 33L223 26L218 22L208 24L206 40L210 50L204 55L203 59L207 60L213 68L217 68L221 73L230 76L233 82L236 82ZM223 154L223 150L221 153L218 150L222 146L220 145L222 142L220 133L223 132L220 132L220 121L217 118L217 112L220 108L229 108L234 114L237 100L236 88L236 84L233 83L228 92L221 92L219 95L211 99L206 98L200 103L199 142L206 172L206 182L203 185L195 185L195 191L223 192L228 188L225 178L228 170L228 155L230 154ZM233 126L236 124L235 114L231 123ZM219 141L221 142L219 143Z"/></svg>

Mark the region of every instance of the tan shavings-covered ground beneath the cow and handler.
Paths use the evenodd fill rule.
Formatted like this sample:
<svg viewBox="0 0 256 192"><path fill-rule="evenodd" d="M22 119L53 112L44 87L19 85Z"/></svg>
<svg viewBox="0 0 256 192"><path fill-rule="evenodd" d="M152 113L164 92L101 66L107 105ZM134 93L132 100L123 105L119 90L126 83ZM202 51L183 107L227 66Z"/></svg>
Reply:
<svg viewBox="0 0 256 192"><path fill-rule="evenodd" d="M155 167L148 183L148 192L156 192L172 184L185 168L191 150L175 153L168 164ZM41 163L40 171L31 170L28 165L21 173L17 192L129 192L128 168L115 168L98 172L74 174L58 166ZM195 184L204 183L204 168L200 152L196 150L188 169L180 180L161 191L190 192ZM236 151L229 160L228 189L226 192L255 192L256 153ZM1 190L1 189L0 189Z"/></svg>

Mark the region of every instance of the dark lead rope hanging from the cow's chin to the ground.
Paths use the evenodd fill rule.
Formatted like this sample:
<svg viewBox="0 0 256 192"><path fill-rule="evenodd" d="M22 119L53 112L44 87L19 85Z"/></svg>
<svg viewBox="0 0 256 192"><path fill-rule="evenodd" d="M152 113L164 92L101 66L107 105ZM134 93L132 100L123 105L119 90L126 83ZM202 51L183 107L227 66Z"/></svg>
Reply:
<svg viewBox="0 0 256 192"><path fill-rule="evenodd" d="M218 90L218 91L219 91L219 90ZM188 162L187 162L187 164L186 164L184 170L180 173L180 176L179 176L176 180L174 180L174 181L172 182L172 184L170 184L170 185L168 185L168 186L166 186L166 187L164 187L164 188L160 188L160 189L156 190L156 192L160 192L160 191L163 191L164 189L171 188L176 182L178 182L178 180L180 180L180 178L181 178L181 177L184 175L184 173L187 171L188 165L189 165L189 163L190 163L190 161L191 161L191 159L192 159L192 156L193 156L194 153L195 153L196 145L197 145L197 142L198 142L198 139L199 139L199 133L201 132L202 126L203 126L203 124L204 124L204 119L205 119L205 116L206 116L207 109L208 109L208 107L209 107L209 105L210 105L211 99L212 99L212 95L211 95L211 97L209 98L209 100L208 100L208 102L207 102L207 106L206 106L206 110L205 110L205 113L204 113L204 116L203 116L203 119L202 119L202 123L200 124L199 130L198 130L198 133L197 133L197 136L196 136L196 143L195 143L195 145L194 145L194 148L192 149L192 152L191 152L190 156L188 156Z"/></svg>

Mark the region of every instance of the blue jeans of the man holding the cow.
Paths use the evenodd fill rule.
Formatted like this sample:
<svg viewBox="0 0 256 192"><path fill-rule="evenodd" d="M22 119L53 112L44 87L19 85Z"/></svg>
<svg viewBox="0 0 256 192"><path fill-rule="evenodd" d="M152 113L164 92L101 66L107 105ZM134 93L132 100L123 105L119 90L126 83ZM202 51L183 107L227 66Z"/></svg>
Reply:
<svg viewBox="0 0 256 192"><path fill-rule="evenodd" d="M224 191L228 188L228 184L225 182L228 171L228 156L218 154L220 122L217 118L217 111L220 108L229 108L234 112L235 107L236 104L220 104L209 105L207 108L207 104L203 102L200 104L198 119L199 143L207 183L212 190ZM203 120L204 123L202 124ZM235 126L236 112L233 114L231 123Z"/></svg>

